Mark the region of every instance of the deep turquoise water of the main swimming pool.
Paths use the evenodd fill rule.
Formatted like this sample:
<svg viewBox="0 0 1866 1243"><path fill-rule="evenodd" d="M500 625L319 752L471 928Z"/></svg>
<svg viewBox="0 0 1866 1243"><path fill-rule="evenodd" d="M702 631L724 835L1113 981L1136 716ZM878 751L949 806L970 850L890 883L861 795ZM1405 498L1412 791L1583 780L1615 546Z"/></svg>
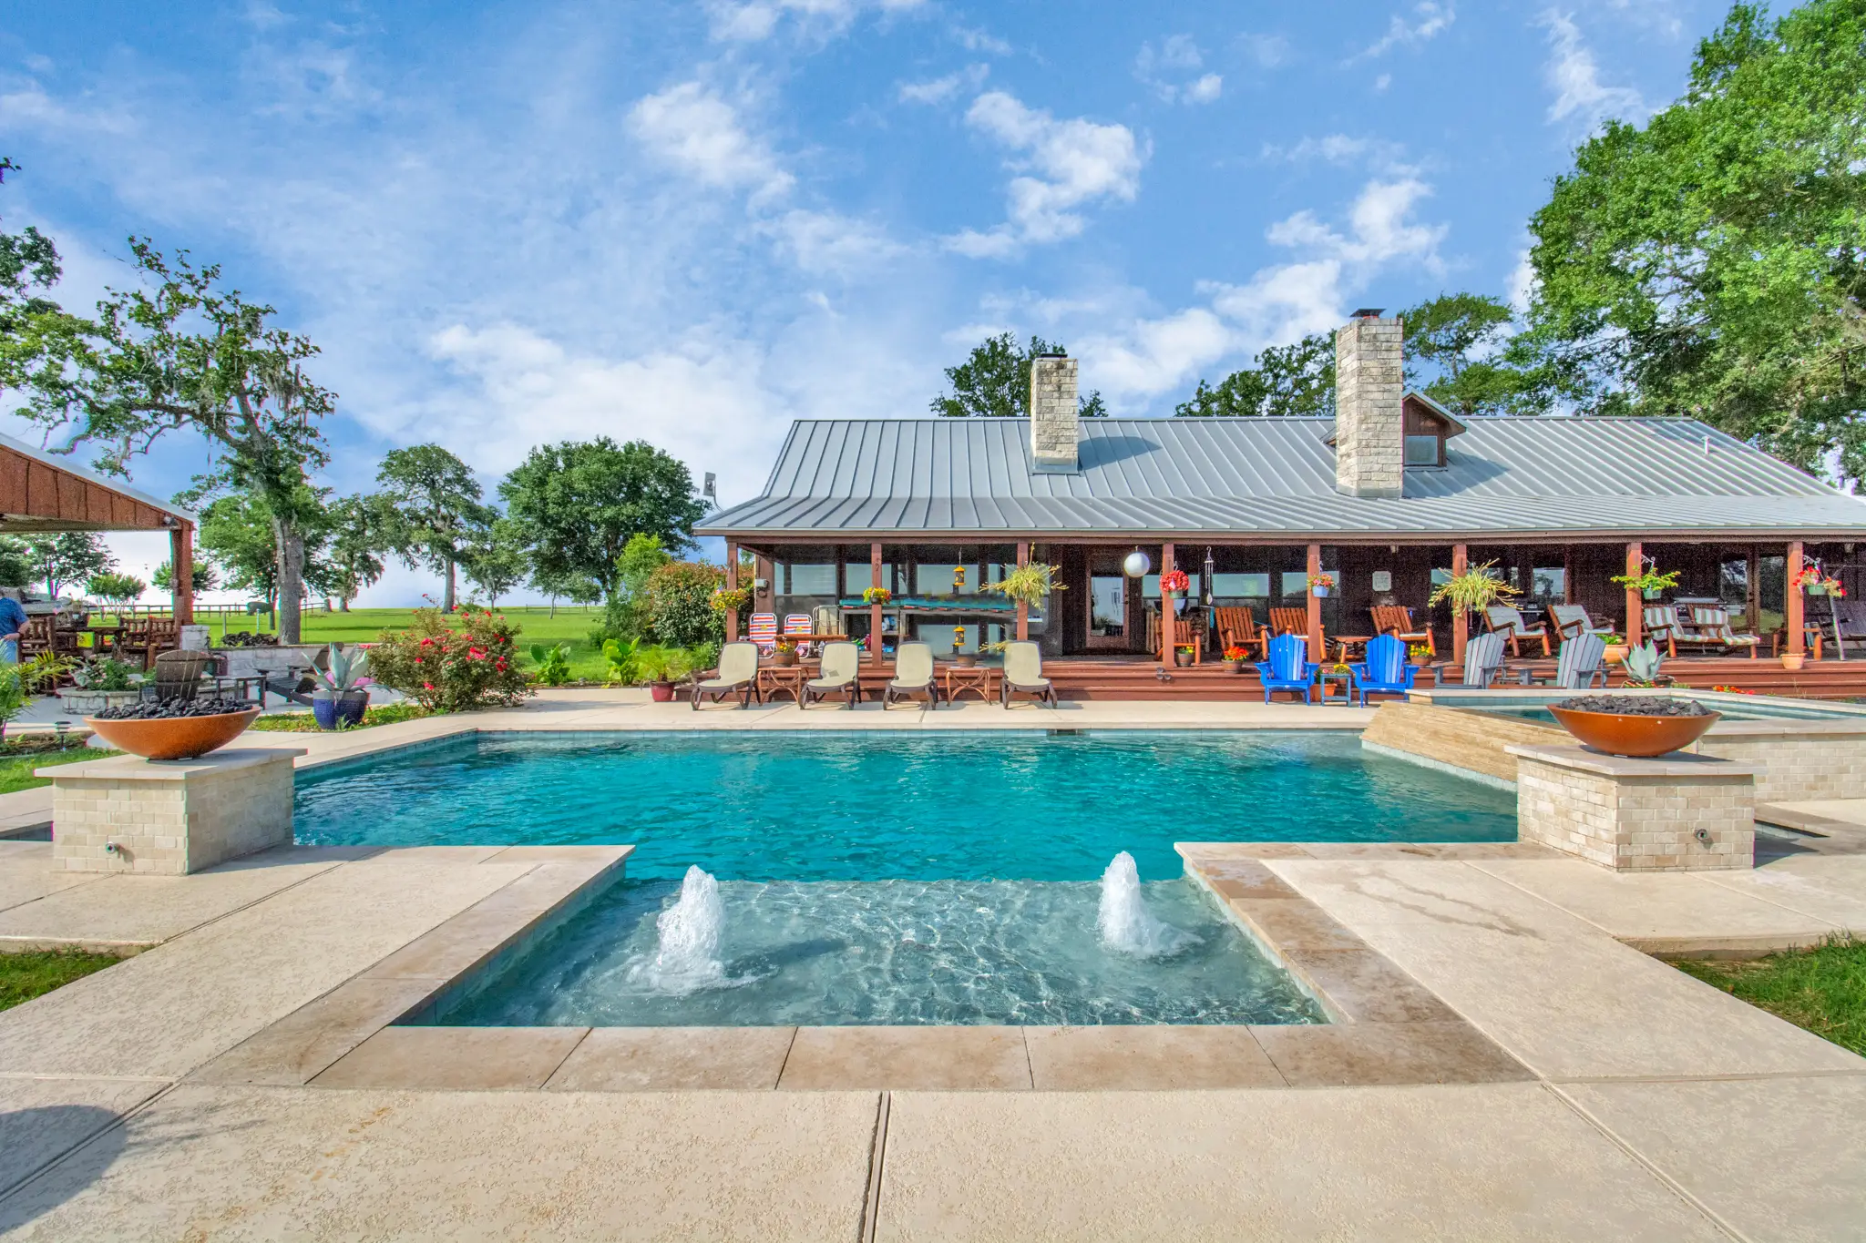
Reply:
<svg viewBox="0 0 1866 1243"><path fill-rule="evenodd" d="M1515 799L1358 734L481 734L310 772L306 844L634 842L629 876L1090 881L1176 840L1513 840Z"/></svg>

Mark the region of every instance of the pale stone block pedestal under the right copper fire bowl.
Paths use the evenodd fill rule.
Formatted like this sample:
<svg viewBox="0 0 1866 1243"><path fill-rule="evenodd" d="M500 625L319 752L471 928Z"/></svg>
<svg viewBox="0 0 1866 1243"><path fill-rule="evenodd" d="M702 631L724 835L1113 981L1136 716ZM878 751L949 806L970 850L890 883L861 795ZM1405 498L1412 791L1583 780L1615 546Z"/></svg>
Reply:
<svg viewBox="0 0 1866 1243"><path fill-rule="evenodd" d="M1732 760L1633 760L1579 745L1510 747L1517 835L1616 872L1756 863L1756 770Z"/></svg>

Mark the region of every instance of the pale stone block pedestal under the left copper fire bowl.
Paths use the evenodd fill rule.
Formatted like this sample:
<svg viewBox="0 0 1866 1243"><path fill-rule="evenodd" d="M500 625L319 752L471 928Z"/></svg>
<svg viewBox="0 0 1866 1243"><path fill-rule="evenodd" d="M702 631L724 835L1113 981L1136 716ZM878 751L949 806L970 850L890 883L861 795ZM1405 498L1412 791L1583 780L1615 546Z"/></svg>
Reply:
<svg viewBox="0 0 1866 1243"><path fill-rule="evenodd" d="M187 876L291 844L291 762L302 747L198 760L112 757L41 768L52 779L52 867Z"/></svg>

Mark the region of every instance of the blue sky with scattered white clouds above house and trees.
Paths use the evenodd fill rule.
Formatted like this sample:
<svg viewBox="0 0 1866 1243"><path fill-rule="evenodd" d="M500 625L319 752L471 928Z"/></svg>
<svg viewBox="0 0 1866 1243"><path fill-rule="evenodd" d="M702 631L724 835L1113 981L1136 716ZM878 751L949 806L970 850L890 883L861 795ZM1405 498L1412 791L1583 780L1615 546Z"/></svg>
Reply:
<svg viewBox="0 0 1866 1243"><path fill-rule="evenodd" d="M340 395L340 492L396 445L491 485L608 434L731 503L789 419L926 414L1004 328L1159 416L1357 306L1521 294L1573 143L1674 99L1722 13L4 0L0 216L58 239L75 307L131 233L278 306Z"/></svg>

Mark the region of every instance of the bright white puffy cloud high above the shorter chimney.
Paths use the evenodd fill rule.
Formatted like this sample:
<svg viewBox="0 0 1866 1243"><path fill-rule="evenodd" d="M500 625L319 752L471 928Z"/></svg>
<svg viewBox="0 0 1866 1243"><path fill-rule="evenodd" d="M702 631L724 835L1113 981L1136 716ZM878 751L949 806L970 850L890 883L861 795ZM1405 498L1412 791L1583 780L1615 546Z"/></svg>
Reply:
<svg viewBox="0 0 1866 1243"><path fill-rule="evenodd" d="M1017 175L1006 190L1006 224L989 233L965 229L948 239L950 248L963 255L1004 257L1030 242L1075 237L1086 227L1077 207L1110 198L1131 203L1140 190L1146 155L1125 125L1084 117L1058 121L1006 91L974 99L965 119L1017 153L1006 160Z"/></svg>

